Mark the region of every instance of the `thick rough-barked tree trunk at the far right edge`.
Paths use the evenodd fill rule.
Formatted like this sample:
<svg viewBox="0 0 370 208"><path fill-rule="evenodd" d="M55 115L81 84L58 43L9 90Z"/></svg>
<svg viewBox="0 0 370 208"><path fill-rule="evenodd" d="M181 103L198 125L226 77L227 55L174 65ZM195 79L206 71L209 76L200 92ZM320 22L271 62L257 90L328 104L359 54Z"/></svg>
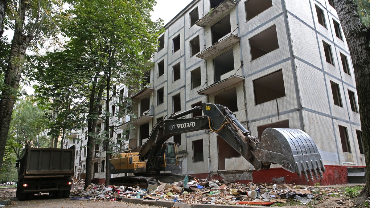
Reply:
<svg viewBox="0 0 370 208"><path fill-rule="evenodd" d="M352 0L334 0L334 4L350 50L359 98L367 181L356 202L364 205L370 197L370 30L361 23Z"/></svg>

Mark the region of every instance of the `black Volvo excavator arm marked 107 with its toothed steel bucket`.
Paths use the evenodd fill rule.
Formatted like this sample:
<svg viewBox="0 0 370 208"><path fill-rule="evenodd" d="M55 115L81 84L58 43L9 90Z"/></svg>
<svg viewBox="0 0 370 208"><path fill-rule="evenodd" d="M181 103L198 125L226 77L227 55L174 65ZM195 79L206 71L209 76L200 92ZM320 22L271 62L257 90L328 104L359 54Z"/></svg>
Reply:
<svg viewBox="0 0 370 208"><path fill-rule="evenodd" d="M204 116L182 118L196 111ZM142 146L139 156L146 161L147 172L158 171L159 160L168 138L199 130L216 132L232 148L248 160L256 170L268 169L280 164L290 172L302 175L307 181L313 177L323 177L325 167L312 138L298 129L267 128L261 141L251 136L229 109L218 104L202 103L190 110L173 114L159 121L153 128L148 141Z"/></svg>

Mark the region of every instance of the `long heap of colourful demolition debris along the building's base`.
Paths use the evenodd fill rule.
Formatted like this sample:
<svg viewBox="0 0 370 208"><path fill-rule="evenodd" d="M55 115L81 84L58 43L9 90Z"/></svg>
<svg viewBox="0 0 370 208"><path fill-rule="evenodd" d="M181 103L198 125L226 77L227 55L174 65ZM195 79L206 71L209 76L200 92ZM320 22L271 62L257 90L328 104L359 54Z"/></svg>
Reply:
<svg viewBox="0 0 370 208"><path fill-rule="evenodd" d="M295 184L240 184L222 180L199 180L185 177L181 182L165 184L147 189L124 186L92 184L84 190L84 181L75 181L71 190L72 197L90 197L90 200L120 201L122 198L142 198L166 200L187 204L235 204L235 205L271 205L287 201L297 201L306 205L313 200L340 197L340 190L318 186ZM351 202L338 201L349 205Z"/></svg>

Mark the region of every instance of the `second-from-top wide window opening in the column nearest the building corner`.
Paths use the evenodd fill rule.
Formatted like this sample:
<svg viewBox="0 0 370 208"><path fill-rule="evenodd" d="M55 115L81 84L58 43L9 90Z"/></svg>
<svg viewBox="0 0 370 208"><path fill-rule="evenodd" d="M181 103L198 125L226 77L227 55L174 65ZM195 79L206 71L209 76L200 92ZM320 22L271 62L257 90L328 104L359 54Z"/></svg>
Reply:
<svg viewBox="0 0 370 208"><path fill-rule="evenodd" d="M277 40L276 26L272 26L267 30L257 34L249 39L250 54L252 60L264 56L271 51L279 48L279 41Z"/></svg>

